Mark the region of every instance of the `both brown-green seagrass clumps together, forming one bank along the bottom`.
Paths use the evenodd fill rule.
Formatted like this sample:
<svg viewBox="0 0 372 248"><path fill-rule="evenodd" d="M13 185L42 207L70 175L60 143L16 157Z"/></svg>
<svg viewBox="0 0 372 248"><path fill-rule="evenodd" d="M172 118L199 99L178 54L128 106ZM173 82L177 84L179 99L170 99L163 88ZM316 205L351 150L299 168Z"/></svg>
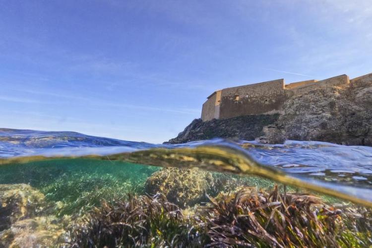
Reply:
<svg viewBox="0 0 372 248"><path fill-rule="evenodd" d="M70 231L71 247L367 247L371 209L309 194L242 187L181 210L163 194L102 202ZM186 214L184 215L183 212ZM188 213L188 214L187 214Z"/></svg>

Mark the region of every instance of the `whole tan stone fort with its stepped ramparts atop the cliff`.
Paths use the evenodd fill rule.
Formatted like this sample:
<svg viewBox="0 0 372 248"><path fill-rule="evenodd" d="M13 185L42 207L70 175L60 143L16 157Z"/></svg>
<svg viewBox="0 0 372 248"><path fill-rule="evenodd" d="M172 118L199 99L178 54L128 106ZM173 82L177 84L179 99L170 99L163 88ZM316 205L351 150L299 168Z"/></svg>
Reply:
<svg viewBox="0 0 372 248"><path fill-rule="evenodd" d="M277 79L255 84L217 90L208 96L203 104L201 119L227 119L237 116L276 114L284 102L310 90L353 83L370 77L367 74L354 79L348 75L339 75L324 80L307 80L285 84L284 79Z"/></svg>

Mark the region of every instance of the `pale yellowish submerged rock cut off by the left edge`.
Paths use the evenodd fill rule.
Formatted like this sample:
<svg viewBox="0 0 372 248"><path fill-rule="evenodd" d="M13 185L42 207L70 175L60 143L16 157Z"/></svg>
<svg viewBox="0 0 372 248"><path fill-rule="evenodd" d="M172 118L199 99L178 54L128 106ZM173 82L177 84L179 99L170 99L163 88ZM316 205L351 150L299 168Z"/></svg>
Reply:
<svg viewBox="0 0 372 248"><path fill-rule="evenodd" d="M45 207L44 194L29 185L0 185L0 231L40 214Z"/></svg>

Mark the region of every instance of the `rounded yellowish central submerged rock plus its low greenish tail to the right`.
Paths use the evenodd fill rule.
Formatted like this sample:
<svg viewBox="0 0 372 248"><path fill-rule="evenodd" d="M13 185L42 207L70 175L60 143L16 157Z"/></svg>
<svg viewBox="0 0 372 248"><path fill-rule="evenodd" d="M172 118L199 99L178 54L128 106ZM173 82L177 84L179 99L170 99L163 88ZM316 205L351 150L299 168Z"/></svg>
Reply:
<svg viewBox="0 0 372 248"><path fill-rule="evenodd" d="M208 196L221 191L235 191L242 186L270 187L273 183L258 177L241 177L210 173L197 169L163 168L153 173L145 183L149 195L164 194L168 201L185 209L208 202Z"/></svg>

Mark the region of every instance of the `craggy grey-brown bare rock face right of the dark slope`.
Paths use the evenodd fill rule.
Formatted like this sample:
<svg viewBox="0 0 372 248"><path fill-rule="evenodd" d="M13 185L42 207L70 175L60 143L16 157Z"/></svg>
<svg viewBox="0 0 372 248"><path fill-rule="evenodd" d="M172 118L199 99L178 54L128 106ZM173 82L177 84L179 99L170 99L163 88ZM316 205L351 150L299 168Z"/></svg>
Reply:
<svg viewBox="0 0 372 248"><path fill-rule="evenodd" d="M276 133L286 139L372 145L372 82L317 89L289 99Z"/></svg>

